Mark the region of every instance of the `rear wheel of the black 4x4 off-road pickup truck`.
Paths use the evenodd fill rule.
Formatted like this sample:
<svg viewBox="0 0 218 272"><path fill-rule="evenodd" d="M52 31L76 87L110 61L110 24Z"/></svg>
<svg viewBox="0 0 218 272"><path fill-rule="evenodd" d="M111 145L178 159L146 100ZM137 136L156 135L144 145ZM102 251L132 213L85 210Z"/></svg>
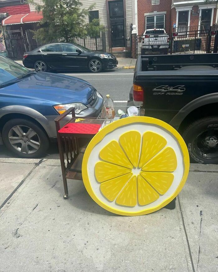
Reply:
<svg viewBox="0 0 218 272"><path fill-rule="evenodd" d="M218 164L218 116L198 119L183 131L191 163Z"/></svg>

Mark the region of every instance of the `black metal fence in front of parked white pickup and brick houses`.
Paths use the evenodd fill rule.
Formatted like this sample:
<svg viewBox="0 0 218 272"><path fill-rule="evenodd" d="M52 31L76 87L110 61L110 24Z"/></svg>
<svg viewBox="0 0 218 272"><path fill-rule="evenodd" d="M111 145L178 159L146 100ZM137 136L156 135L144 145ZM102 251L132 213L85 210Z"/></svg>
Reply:
<svg viewBox="0 0 218 272"><path fill-rule="evenodd" d="M217 25L207 30L204 29L203 25L180 26L174 28L168 37L164 35L150 36L137 36L138 55L217 53Z"/></svg>

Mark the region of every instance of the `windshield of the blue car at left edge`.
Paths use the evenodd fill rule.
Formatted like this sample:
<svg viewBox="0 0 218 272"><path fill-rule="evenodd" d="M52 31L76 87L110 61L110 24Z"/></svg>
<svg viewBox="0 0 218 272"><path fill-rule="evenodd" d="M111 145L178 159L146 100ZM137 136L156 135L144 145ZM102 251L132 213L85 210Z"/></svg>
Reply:
<svg viewBox="0 0 218 272"><path fill-rule="evenodd" d="M28 75L31 71L16 62L0 56L0 85L7 85Z"/></svg>

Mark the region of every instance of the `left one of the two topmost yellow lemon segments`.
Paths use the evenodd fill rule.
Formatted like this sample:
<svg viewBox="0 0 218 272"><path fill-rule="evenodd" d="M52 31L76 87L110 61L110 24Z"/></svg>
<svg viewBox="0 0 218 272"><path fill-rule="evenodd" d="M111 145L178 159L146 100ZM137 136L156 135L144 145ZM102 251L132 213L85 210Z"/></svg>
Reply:
<svg viewBox="0 0 218 272"><path fill-rule="evenodd" d="M130 162L137 167L141 144L140 133L138 131L128 131L120 136L119 141Z"/></svg>

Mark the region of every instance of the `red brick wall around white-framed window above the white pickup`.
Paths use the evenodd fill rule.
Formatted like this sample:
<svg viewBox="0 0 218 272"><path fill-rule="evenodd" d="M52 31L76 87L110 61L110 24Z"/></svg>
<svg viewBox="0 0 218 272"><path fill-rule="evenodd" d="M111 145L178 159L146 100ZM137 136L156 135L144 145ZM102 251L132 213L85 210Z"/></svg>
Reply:
<svg viewBox="0 0 218 272"><path fill-rule="evenodd" d="M138 34L145 32L145 13L149 12L167 12L165 14L165 30L170 30L170 10L171 0L160 0L159 5L152 5L151 0L138 0Z"/></svg>

